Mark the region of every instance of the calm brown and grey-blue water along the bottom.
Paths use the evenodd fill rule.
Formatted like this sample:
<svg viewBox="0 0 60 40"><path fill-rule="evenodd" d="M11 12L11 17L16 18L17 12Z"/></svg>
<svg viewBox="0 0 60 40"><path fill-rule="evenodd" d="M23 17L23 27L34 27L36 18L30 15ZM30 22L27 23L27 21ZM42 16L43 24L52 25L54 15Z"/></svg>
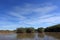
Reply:
<svg viewBox="0 0 60 40"><path fill-rule="evenodd" d="M0 40L60 40L60 33L0 34Z"/></svg>

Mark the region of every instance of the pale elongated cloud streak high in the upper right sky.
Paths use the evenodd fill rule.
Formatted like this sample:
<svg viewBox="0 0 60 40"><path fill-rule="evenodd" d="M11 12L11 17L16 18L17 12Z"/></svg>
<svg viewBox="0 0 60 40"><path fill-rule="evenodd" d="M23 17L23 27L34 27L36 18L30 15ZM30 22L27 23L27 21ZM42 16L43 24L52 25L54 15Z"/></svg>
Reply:
<svg viewBox="0 0 60 40"><path fill-rule="evenodd" d="M46 14L46 13L49 13L51 11L54 11L56 8L57 8L57 6L45 6L45 7L40 7L40 8L34 9L34 12Z"/></svg>

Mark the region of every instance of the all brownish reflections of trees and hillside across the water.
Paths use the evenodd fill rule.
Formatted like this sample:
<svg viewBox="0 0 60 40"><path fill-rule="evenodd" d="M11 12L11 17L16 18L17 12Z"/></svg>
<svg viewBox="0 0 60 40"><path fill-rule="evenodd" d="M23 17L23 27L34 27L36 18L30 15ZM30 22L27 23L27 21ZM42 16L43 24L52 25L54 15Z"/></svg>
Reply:
<svg viewBox="0 0 60 40"><path fill-rule="evenodd" d="M47 36L47 37L45 37ZM57 32L46 32L46 33L20 33L17 34L18 39L40 39L44 40L44 38L48 39L48 37L53 37L55 39L60 39L60 33Z"/></svg>

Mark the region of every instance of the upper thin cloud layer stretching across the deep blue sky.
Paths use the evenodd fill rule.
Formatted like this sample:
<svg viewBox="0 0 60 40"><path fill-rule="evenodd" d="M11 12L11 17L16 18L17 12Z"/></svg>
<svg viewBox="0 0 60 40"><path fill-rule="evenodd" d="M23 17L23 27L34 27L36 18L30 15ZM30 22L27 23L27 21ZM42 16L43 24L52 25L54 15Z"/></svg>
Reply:
<svg viewBox="0 0 60 40"><path fill-rule="evenodd" d="M47 5L47 4L46 4ZM35 7L36 6L36 7ZM54 10L56 10L58 7L55 6L55 5L47 5L47 6L43 6L43 7L38 7L37 5L35 4L26 4L24 7L20 7L20 6L16 6L12 9L12 11L9 12L9 15L11 16L16 16L18 17L19 19L27 19L26 16L24 15L29 15L29 14L33 14L33 16L41 16L41 15L46 15L47 13L49 14L49 12L52 12Z"/></svg>

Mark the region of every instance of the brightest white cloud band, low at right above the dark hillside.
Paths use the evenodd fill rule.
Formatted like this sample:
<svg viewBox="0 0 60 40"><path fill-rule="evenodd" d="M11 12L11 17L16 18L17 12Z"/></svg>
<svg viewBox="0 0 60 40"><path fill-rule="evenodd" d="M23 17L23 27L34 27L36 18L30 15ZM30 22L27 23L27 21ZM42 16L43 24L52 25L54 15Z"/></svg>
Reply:
<svg viewBox="0 0 60 40"><path fill-rule="evenodd" d="M32 20L30 22L26 22L26 23L31 25L42 24L42 23L56 24L56 23L60 23L60 16L53 16L53 17L48 16L48 18L44 17L37 20Z"/></svg>

